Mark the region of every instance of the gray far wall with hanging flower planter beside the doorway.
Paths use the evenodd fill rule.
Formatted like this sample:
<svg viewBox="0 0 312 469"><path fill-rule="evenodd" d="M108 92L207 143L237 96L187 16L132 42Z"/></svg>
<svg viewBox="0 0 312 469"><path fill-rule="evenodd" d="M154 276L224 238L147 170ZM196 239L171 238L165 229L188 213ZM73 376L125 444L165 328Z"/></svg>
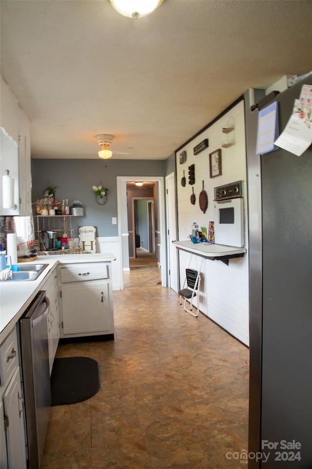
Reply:
<svg viewBox="0 0 312 469"><path fill-rule="evenodd" d="M117 217L116 177L165 176L166 167L166 160L32 159L32 200L42 198L48 185L59 186L58 201L68 198L71 204L78 199L85 207L85 216L73 219L75 233L78 226L92 225L98 228L97 236L117 236L118 227L112 225L112 217ZM105 205L98 205L92 192L98 185L108 188Z"/></svg>

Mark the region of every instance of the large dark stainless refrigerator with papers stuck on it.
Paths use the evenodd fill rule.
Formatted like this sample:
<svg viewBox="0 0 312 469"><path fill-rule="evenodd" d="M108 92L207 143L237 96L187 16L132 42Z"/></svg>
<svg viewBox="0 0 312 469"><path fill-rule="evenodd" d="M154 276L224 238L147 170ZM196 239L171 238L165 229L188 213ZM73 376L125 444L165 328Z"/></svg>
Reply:
<svg viewBox="0 0 312 469"><path fill-rule="evenodd" d="M312 88L311 73L275 98L280 132L303 84ZM285 149L255 155L257 114L257 109L252 111L246 105L250 223L248 468L310 469L312 148L301 156ZM254 456L257 452L258 457Z"/></svg>

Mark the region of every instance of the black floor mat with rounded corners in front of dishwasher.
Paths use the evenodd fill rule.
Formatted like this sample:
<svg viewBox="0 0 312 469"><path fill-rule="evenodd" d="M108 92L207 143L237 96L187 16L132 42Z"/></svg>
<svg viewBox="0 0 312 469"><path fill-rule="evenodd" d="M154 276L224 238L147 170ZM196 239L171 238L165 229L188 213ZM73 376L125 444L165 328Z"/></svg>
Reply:
<svg viewBox="0 0 312 469"><path fill-rule="evenodd" d="M101 387L98 362L88 357L56 358L51 374L52 405L75 404Z"/></svg>

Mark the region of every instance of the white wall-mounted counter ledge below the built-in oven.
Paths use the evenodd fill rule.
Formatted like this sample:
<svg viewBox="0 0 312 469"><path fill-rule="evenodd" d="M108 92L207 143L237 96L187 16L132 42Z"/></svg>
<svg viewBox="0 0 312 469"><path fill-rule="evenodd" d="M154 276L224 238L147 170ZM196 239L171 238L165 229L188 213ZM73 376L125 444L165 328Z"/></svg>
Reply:
<svg viewBox="0 0 312 469"><path fill-rule="evenodd" d="M217 259L218 257L224 259L237 254L244 254L247 251L246 248L225 246L224 244L194 244L192 241L175 241L173 244L176 245L177 249L196 254L197 256L207 257L212 260Z"/></svg>

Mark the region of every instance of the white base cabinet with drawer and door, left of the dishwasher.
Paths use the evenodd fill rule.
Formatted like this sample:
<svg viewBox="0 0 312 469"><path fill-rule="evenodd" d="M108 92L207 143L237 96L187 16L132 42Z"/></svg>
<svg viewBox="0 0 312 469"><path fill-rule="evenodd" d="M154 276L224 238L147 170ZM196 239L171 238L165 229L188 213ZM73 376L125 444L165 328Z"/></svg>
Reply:
<svg viewBox="0 0 312 469"><path fill-rule="evenodd" d="M0 346L0 381L1 469L26 469L24 406L16 328Z"/></svg>

